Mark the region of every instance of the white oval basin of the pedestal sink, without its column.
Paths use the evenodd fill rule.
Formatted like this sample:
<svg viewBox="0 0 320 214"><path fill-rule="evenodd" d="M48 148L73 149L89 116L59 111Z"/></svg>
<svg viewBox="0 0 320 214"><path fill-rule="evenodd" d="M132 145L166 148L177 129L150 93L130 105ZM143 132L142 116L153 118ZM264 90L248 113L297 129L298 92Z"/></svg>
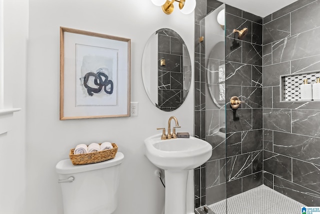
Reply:
<svg viewBox="0 0 320 214"><path fill-rule="evenodd" d="M201 139L175 138L161 140L161 134L144 140L145 156L164 170L194 169L211 157L212 146Z"/></svg>

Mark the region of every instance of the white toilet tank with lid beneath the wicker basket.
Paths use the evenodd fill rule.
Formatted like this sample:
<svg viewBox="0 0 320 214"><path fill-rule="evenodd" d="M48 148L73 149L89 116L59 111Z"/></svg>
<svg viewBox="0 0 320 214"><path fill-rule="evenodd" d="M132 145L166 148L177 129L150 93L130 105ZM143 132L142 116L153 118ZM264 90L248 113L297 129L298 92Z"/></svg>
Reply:
<svg viewBox="0 0 320 214"><path fill-rule="evenodd" d="M73 165L70 159L56 166L64 214L110 214L117 206L119 167L124 155L99 163Z"/></svg>

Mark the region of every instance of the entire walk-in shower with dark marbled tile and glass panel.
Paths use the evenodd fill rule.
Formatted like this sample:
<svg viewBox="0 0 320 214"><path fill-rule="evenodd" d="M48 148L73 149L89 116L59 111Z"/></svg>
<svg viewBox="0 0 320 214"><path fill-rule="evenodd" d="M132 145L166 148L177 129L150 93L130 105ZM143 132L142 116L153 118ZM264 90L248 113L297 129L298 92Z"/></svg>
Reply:
<svg viewBox="0 0 320 214"><path fill-rule="evenodd" d="M215 0L197 7L195 135L213 150L195 169L196 211L301 214L320 206L320 102L285 100L284 89L298 87L284 80L300 73L310 83L320 76L320 49L312 48L320 46L320 22L298 21L305 14L303 22L316 22L320 0L265 18ZM233 96L243 101L237 109Z"/></svg>

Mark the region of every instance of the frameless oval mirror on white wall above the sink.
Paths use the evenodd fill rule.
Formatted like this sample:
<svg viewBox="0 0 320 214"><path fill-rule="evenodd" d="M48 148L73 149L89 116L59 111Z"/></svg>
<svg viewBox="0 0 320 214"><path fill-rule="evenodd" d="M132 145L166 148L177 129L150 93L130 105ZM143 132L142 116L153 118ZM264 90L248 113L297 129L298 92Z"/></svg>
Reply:
<svg viewBox="0 0 320 214"><path fill-rule="evenodd" d="M175 31L163 28L151 35L143 51L142 80L157 108L173 111L183 103L191 83L191 61Z"/></svg>

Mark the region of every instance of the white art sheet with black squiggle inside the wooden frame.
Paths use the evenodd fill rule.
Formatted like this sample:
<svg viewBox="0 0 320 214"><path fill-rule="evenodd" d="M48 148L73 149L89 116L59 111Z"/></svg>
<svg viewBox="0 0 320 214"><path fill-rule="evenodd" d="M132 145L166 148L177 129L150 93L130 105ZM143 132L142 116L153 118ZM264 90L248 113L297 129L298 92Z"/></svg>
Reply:
<svg viewBox="0 0 320 214"><path fill-rule="evenodd" d="M117 105L118 50L75 44L75 105Z"/></svg>

